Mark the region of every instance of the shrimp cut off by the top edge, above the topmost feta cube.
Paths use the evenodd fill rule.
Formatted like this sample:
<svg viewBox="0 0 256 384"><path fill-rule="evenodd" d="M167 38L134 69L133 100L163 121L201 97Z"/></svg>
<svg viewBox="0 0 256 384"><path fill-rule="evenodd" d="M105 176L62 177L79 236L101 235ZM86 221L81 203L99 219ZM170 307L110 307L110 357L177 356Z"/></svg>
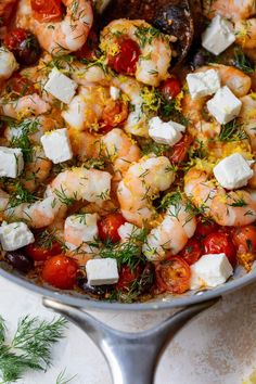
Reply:
<svg viewBox="0 0 256 384"><path fill-rule="evenodd" d="M217 14L232 21L245 20L256 13L254 0L204 0L204 14L212 18Z"/></svg>

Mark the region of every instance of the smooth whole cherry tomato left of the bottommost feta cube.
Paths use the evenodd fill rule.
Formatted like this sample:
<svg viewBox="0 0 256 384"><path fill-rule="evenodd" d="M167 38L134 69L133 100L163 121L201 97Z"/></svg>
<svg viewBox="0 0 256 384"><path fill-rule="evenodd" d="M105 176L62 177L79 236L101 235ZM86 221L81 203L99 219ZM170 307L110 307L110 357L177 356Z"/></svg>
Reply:
<svg viewBox="0 0 256 384"><path fill-rule="evenodd" d="M42 280L61 290L72 290L76 282L77 263L64 255L49 258L42 269Z"/></svg>

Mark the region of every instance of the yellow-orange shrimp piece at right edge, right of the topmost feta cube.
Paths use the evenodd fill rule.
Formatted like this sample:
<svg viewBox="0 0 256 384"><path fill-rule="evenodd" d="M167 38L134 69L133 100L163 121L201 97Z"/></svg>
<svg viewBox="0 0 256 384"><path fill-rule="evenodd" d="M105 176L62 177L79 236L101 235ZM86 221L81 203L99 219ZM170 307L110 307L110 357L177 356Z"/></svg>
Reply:
<svg viewBox="0 0 256 384"><path fill-rule="evenodd" d="M239 21L234 24L236 42L245 49L256 48L256 18Z"/></svg>

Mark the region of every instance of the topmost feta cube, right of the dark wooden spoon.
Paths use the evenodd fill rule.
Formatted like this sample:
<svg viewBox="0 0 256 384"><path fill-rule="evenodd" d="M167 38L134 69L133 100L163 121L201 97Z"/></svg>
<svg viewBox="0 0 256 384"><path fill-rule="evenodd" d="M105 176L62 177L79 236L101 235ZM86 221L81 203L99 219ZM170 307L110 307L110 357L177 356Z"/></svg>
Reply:
<svg viewBox="0 0 256 384"><path fill-rule="evenodd" d="M217 15L202 35L202 46L215 55L223 52L235 41L232 23Z"/></svg>

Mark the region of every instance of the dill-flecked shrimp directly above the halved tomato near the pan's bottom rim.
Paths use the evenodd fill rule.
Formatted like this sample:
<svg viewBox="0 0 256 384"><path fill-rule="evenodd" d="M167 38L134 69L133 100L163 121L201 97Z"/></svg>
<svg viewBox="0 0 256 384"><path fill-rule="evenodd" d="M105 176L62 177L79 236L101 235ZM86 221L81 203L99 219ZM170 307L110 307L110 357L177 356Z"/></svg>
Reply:
<svg viewBox="0 0 256 384"><path fill-rule="evenodd" d="M165 259L166 252L178 254L193 236L196 220L185 202L169 205L161 225L152 229L143 244L142 252L150 261Z"/></svg>

